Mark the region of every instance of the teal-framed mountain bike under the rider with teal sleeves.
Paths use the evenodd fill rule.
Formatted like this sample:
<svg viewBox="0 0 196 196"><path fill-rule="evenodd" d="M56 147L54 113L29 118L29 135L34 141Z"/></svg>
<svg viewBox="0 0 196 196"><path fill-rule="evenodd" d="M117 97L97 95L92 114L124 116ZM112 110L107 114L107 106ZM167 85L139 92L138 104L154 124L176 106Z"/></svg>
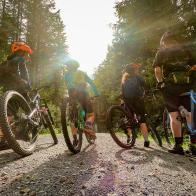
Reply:
<svg viewBox="0 0 196 196"><path fill-rule="evenodd" d="M86 112L77 99L66 97L62 101L61 124L63 136L68 149L74 154L80 152L82 147L85 118ZM72 133L73 129L75 129L77 133L75 138ZM91 137L89 134L85 133L85 136L89 144L95 142L95 138Z"/></svg>

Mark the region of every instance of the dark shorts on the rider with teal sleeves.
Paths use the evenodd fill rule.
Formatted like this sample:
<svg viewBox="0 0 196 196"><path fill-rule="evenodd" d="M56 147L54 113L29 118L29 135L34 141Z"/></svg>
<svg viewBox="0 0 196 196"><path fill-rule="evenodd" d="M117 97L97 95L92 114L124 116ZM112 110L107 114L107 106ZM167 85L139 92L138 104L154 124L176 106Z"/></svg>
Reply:
<svg viewBox="0 0 196 196"><path fill-rule="evenodd" d="M86 91L79 91L77 89L69 89L69 96L77 99L86 113L93 113L93 106Z"/></svg>

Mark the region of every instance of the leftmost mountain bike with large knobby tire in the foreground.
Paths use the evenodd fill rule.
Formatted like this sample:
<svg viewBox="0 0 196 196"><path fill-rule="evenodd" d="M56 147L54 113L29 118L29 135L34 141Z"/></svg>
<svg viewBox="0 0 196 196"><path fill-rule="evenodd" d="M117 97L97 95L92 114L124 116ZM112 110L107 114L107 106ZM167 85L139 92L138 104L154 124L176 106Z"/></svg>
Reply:
<svg viewBox="0 0 196 196"><path fill-rule="evenodd" d="M7 91L0 97L2 132L9 147L22 156L33 153L42 127L48 128L54 144L58 143L54 121L46 101L41 99L40 89L25 97L16 91Z"/></svg>

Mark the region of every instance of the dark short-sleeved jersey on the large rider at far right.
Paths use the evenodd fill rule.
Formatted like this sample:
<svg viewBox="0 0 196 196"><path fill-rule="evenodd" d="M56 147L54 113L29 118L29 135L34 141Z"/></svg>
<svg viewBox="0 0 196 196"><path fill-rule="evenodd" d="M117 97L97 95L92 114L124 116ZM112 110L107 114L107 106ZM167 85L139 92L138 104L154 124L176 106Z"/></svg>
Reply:
<svg viewBox="0 0 196 196"><path fill-rule="evenodd" d="M195 89L196 74L195 72L190 73L190 83L175 84L170 83L172 74L176 74L179 78L184 77L186 81L188 70L196 64L196 58L190 47L188 46L177 46L172 48L160 49L153 62L153 67L161 67L163 71L163 77L167 84L167 94L178 95L190 89ZM181 75L180 75L181 74ZM169 81L169 82L168 82Z"/></svg>

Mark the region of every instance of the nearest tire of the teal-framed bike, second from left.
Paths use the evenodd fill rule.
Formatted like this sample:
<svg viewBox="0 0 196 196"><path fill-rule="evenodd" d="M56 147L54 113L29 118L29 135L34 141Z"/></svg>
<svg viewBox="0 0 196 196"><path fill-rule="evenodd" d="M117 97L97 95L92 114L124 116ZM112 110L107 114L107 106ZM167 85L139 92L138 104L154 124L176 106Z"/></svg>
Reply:
<svg viewBox="0 0 196 196"><path fill-rule="evenodd" d="M79 140L78 140L78 145L77 147L75 147L71 141L71 138L69 136L69 130L68 130L68 122L67 122L67 105L68 105L68 101L63 101L62 105L61 105L61 126L62 126L62 132L63 132L63 136L65 139L65 143L67 144L68 149L74 153L77 154L80 152L81 147L82 147L82 131L78 130L79 133Z"/></svg>

